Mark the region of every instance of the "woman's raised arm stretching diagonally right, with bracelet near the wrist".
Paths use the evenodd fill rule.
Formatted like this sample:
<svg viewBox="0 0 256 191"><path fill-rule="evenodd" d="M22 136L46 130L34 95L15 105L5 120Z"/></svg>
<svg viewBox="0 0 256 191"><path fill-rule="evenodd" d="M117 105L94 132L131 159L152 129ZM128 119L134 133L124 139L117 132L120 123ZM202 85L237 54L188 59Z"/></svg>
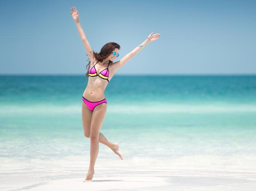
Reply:
<svg viewBox="0 0 256 191"><path fill-rule="evenodd" d="M149 42L153 42L159 38L160 34L156 33L153 35L153 32L148 35L148 38L141 43L139 46L137 46L135 49L133 49L130 53L125 55L121 60L113 63L113 69L114 72L117 71L119 68L121 68L128 60L130 60L134 55L136 55L141 49L143 49Z"/></svg>

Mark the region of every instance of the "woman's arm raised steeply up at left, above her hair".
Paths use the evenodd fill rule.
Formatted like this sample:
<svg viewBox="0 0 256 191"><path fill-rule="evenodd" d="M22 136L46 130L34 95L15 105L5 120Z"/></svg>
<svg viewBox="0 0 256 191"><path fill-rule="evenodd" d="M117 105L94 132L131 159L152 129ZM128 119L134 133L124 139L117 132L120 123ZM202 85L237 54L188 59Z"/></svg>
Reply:
<svg viewBox="0 0 256 191"><path fill-rule="evenodd" d="M83 42L83 46L85 47L85 50L86 50L86 55L90 58L91 63L92 63L92 62L94 62L93 55L92 55L92 49L91 49L91 46L90 46L90 44L86 38L86 35L82 29L82 26L79 22L79 13L78 13L78 10L76 10L76 7L74 7L74 8L71 7L71 15L76 23L76 27L78 29L79 36L80 36L80 38Z"/></svg>

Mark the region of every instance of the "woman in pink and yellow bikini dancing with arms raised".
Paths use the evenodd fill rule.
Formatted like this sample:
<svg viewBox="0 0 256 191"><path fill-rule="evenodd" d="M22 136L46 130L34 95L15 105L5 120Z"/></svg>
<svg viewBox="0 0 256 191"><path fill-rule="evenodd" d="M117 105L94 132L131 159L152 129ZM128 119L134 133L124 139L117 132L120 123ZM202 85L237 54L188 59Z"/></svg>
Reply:
<svg viewBox="0 0 256 191"><path fill-rule="evenodd" d="M71 7L71 15L76 23L76 27L87 52L87 56L90 59L88 64L89 68L86 73L86 76L90 76L90 78L88 79L87 87L85 88L82 96L82 121L84 135L85 137L90 138L90 166L87 176L83 182L92 182L94 166L98 155L99 142L108 146L121 158L121 160L123 160L122 153L119 151L118 143L109 141L104 135L102 135L102 133L100 133L100 128L107 111L107 100L104 95L104 90L114 73L141 49L143 49L149 42L157 40L160 34L156 33L153 35L151 33L141 45L125 55L121 60L113 63L113 60L119 56L120 45L115 42L109 42L101 48L100 53L95 53L91 49L80 25L79 14L76 7Z"/></svg>

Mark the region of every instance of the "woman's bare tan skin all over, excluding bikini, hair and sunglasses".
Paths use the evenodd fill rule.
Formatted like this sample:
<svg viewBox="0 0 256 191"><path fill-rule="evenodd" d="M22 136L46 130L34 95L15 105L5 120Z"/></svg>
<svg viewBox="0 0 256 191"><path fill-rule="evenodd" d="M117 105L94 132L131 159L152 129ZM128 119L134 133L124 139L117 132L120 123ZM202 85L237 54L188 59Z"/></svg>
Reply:
<svg viewBox="0 0 256 191"><path fill-rule="evenodd" d="M79 22L79 13L78 10L76 10L76 7L71 7L71 16L74 19L76 23L76 27L78 28L78 33L80 35L80 38L82 39L83 45L85 47L85 50L87 52L87 55L91 61L90 68L93 67L93 65L98 61L95 60L93 54L91 53L91 46L86 38L86 35L81 27L81 24ZM149 43L157 40L160 37L159 33L153 34L150 33L148 35L148 38L141 44L144 47ZM119 53L119 49L115 48L113 51L116 51ZM141 51L141 47L135 47L134 50L132 50L130 53L125 55L121 60L117 62L113 62L113 60L116 57L116 55L113 55L112 53L105 58L102 62L98 62L95 65L95 69L97 73L102 71L103 69L106 69L108 67L109 60L111 60L113 63L109 64L109 77L108 80L110 82L111 78L115 74L115 72L121 68L124 64L128 62L134 55L136 55L139 51ZM104 91L106 89L106 86L108 85L108 81L105 79L100 78L99 76L88 78L87 87L85 88L85 91L83 92L83 97L85 97L87 100L91 102L97 102L99 100L103 100L105 98ZM102 133L100 133L101 126L103 124L105 115L107 111L107 104L103 103L94 108L93 111L91 111L86 104L82 101L82 122L83 122L83 131L84 135L87 138L90 138L90 165L87 172L87 176L83 182L92 182L92 178L94 175L94 167L96 158L98 156L98 147L99 142L102 144L105 144L108 146L115 154L117 154L121 160L123 160L122 153L119 151L119 145L118 143L114 143L109 141Z"/></svg>

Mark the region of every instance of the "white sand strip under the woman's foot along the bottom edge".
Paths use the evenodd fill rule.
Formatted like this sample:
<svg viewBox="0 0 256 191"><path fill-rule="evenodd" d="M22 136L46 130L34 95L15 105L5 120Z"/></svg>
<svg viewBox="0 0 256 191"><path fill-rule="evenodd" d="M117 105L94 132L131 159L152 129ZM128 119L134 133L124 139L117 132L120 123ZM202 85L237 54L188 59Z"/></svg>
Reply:
<svg viewBox="0 0 256 191"><path fill-rule="evenodd" d="M255 191L255 178L232 176L113 176L95 177L93 182L82 178L52 180L26 187L28 191Z"/></svg>

